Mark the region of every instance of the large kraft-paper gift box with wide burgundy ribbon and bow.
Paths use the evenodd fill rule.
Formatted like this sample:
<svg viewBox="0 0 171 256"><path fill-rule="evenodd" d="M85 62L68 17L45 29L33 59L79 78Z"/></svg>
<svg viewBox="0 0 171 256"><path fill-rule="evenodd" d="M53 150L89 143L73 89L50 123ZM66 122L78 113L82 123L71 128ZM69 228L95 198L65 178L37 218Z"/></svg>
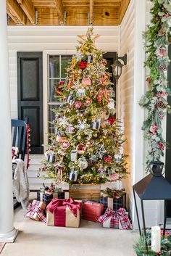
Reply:
<svg viewBox="0 0 171 256"><path fill-rule="evenodd" d="M52 199L46 207L47 226L75 227L80 225L82 201Z"/></svg>

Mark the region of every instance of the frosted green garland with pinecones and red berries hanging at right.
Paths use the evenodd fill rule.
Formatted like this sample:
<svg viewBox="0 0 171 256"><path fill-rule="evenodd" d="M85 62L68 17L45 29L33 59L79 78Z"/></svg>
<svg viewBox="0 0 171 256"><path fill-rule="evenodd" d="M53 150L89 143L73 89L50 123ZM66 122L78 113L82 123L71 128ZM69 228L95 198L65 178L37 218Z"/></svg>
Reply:
<svg viewBox="0 0 171 256"><path fill-rule="evenodd" d="M170 44L171 3L168 0L151 0L151 25L144 33L146 39L147 59L145 67L149 68L148 91L139 104L147 110L146 120L143 122L145 139L149 141L147 167L151 161L160 160L164 156L167 142L162 136L162 120L171 107L167 96L171 95L167 87L166 71L170 59L167 55L167 46Z"/></svg>

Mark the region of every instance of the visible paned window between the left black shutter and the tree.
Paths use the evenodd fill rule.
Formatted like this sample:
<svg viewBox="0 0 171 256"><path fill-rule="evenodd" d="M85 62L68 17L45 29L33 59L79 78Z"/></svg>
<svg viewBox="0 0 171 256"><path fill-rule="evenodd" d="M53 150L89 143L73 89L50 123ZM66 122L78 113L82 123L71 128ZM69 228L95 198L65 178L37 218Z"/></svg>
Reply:
<svg viewBox="0 0 171 256"><path fill-rule="evenodd" d="M54 120L54 112L61 104L58 99L54 98L55 87L57 84L65 80L67 75L66 68L72 60L72 55L49 54L48 55L48 121ZM54 132L54 128L49 124L48 132Z"/></svg>

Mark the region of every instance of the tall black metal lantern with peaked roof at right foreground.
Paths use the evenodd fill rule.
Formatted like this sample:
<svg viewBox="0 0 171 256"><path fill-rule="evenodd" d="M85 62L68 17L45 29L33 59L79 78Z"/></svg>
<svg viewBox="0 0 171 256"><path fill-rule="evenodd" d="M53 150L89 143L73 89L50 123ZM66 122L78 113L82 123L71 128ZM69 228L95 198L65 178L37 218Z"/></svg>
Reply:
<svg viewBox="0 0 171 256"><path fill-rule="evenodd" d="M143 219L143 231L144 236L146 236L146 222L144 216L144 209L143 209L143 201L144 200L164 200L164 230L163 235L165 234L166 228L166 218L167 218L167 203L166 200L171 200L171 183L167 181L163 177L163 170L164 170L164 163L163 162L151 162L150 164L150 171L151 173L143 178L138 183L133 185L133 197L135 200L135 210L138 220L138 228L141 235L141 226L140 220L138 215L138 207L136 203L135 192L138 194L138 197L141 199L141 212L142 212L142 219Z"/></svg>

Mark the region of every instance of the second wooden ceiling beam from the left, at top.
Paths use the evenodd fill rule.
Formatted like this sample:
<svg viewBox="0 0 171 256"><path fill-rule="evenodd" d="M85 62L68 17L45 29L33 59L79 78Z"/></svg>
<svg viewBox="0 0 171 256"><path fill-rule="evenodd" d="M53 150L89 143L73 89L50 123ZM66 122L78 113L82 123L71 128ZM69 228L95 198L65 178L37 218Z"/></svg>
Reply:
<svg viewBox="0 0 171 256"><path fill-rule="evenodd" d="M17 2L20 4L23 12L25 12L28 20L30 20L32 24L35 24L35 8L33 2L31 0L17 0Z"/></svg>

